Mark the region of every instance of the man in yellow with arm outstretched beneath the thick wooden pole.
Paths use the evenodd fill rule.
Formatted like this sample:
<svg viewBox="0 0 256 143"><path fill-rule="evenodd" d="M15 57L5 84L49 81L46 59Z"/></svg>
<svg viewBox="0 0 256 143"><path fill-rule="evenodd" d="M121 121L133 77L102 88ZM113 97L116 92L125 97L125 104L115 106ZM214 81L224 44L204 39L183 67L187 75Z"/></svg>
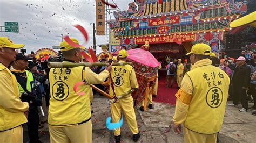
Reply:
<svg viewBox="0 0 256 143"><path fill-rule="evenodd" d="M79 44L75 38L73 42ZM60 43L65 60L63 63L77 63L81 60L84 47L73 47L67 42ZM90 84L100 84L105 81L111 71L111 66L100 74L93 73L90 68L52 68L49 73L50 106L49 132L51 142L92 142L92 123L90 107ZM79 91L73 86L78 82ZM78 95L84 93L84 95Z"/></svg>

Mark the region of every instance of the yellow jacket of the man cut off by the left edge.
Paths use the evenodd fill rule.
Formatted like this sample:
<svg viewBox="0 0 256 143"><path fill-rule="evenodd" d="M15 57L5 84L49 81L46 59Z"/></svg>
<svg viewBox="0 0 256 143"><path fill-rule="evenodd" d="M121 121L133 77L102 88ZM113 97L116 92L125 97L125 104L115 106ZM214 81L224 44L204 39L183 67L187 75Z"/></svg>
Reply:
<svg viewBox="0 0 256 143"><path fill-rule="evenodd" d="M0 131L5 131L28 122L24 112L29 104L20 100L16 77L2 63L0 79Z"/></svg>

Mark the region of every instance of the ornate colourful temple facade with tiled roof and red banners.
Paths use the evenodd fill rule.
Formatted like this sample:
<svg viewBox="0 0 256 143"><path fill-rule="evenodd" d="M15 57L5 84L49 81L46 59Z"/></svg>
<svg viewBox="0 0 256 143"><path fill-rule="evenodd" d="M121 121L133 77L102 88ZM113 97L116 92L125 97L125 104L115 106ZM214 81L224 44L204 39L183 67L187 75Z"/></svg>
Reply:
<svg viewBox="0 0 256 143"><path fill-rule="evenodd" d="M115 12L115 19L109 21L112 38L127 49L148 44L149 51L163 61L166 55L185 58L197 42L210 44L212 52L221 54L228 45L225 35L233 31L230 23L246 14L248 2L135 0L128 5L127 11Z"/></svg>

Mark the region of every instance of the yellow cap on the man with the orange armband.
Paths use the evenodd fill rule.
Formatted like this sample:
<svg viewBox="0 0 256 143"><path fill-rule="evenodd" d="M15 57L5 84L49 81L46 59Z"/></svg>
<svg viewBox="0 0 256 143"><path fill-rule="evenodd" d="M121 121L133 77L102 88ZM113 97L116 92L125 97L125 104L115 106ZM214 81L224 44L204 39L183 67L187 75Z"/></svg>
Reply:
<svg viewBox="0 0 256 143"><path fill-rule="evenodd" d="M196 45L192 46L191 52L187 53L187 55L190 54L198 54L198 55L210 55L211 53L211 47L209 45L198 43Z"/></svg>

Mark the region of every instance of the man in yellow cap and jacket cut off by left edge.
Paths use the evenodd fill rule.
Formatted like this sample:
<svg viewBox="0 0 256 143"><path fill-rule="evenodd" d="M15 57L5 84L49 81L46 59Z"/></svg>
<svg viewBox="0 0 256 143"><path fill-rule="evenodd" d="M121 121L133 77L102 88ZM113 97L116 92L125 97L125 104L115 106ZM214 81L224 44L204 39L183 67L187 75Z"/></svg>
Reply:
<svg viewBox="0 0 256 143"><path fill-rule="evenodd" d="M22 124L29 104L19 97L17 80L7 68L17 55L15 49L24 44L14 44L7 37L0 37L0 142L23 142Z"/></svg>

